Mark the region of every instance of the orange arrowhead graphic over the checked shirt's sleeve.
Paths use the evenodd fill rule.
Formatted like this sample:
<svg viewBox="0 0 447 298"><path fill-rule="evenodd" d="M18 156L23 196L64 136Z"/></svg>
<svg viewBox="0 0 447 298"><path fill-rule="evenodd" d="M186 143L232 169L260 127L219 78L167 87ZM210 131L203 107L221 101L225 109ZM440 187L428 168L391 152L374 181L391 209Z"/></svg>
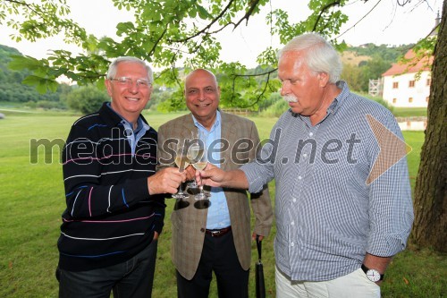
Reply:
<svg viewBox="0 0 447 298"><path fill-rule="evenodd" d="M369 185L409 154L412 148L372 115L367 114L367 122L373 130L375 140L379 143L380 148L379 155L375 158L375 163L367 176L366 183Z"/></svg>

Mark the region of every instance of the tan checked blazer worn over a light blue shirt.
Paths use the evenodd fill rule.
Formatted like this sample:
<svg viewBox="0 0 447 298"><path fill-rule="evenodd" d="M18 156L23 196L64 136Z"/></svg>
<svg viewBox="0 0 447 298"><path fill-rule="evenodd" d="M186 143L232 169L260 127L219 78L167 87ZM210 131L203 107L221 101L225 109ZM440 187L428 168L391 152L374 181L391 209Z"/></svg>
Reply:
<svg viewBox="0 0 447 298"><path fill-rule="evenodd" d="M223 170L237 169L240 165L232 160L232 145L236 140L249 138L254 142L254 148L249 152L238 154L239 160L252 160L256 156L259 136L257 128L252 121L237 115L231 115L221 112L222 132L224 140L228 140L230 148L221 152L221 158L224 163L221 165ZM158 129L158 160L169 157L169 150L163 144L168 138L178 138L179 140L190 139L191 132L197 132L193 123L192 115L183 115L164 123ZM234 153L233 153L234 154ZM240 261L240 266L245 270L249 269L251 258L251 228L250 228L250 209L249 199L246 191L224 189L225 197L230 211L232 222L232 234L236 252ZM205 238L205 229L207 227L207 209L197 209L194 206L196 200L193 196L187 199L190 205L179 209L176 204L171 216L173 226L172 257L175 268L182 277L191 279L194 277L198 268L198 261L202 253L202 247ZM251 207L255 214L254 232L260 235L268 235L273 221L273 211L268 189L264 192L251 195Z"/></svg>

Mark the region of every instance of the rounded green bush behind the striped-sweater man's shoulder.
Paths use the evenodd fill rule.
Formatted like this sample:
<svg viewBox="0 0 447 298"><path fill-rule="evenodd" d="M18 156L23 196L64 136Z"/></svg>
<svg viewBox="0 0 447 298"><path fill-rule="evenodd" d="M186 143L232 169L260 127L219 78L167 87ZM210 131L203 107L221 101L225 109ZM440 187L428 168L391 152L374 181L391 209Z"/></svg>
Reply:
<svg viewBox="0 0 447 298"><path fill-rule="evenodd" d="M67 95L67 105L85 115L96 112L103 102L109 99L104 90L99 90L97 87L89 85L73 89Z"/></svg>

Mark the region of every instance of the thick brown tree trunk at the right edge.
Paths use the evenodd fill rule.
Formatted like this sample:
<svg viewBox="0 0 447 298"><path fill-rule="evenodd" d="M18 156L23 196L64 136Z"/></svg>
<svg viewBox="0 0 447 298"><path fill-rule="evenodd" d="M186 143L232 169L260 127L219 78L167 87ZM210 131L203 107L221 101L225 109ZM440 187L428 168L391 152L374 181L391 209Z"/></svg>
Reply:
<svg viewBox="0 0 447 298"><path fill-rule="evenodd" d="M412 239L420 246L447 251L447 1L443 2L442 21L437 44L434 47L434 64L426 140L422 146L415 188L415 223Z"/></svg>

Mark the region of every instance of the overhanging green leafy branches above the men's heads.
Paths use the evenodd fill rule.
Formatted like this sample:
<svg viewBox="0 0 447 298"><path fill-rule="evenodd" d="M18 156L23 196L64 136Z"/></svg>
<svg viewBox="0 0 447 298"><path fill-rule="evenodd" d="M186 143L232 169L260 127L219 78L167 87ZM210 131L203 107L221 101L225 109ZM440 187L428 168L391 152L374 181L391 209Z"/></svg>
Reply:
<svg viewBox="0 0 447 298"><path fill-rule="evenodd" d="M0 2L0 23L16 29L15 40L35 40L62 32L66 41L82 47L87 54L72 55L55 49L47 59L16 56L11 64L14 69L28 68L32 75L25 83L40 91L55 90L55 79L67 76L78 84L97 83L104 86L104 74L110 60L120 55L134 55L156 68L164 69L158 79L168 87L179 86L180 72L175 67L181 62L186 69L207 67L223 73L223 106L257 107L257 103L277 91L278 81L271 80L276 67L276 50L267 47L257 56L256 76L245 65L223 63L221 45L215 33L243 26L250 18L268 10L269 0L165 0L129 1L111 0L119 9L134 12L134 20L116 25L119 39L88 35L86 31L67 18L70 8L65 0L46 0L41 3L4 0ZM281 41L290 40L304 31L317 31L326 36L336 36L348 20L342 13L347 0L310 0L310 13L304 21L291 23L281 9L270 10L266 23L271 34ZM24 21L17 21L20 15ZM22 20L22 19L21 19ZM181 106L181 97L173 97L171 106Z"/></svg>

